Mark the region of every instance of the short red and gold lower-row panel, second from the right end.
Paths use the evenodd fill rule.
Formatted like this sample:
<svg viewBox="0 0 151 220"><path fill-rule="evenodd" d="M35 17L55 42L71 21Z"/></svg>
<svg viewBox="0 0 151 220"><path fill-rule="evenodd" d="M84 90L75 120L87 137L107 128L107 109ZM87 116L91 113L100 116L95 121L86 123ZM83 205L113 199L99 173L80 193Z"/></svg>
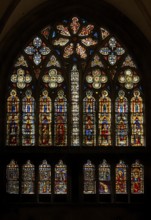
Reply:
<svg viewBox="0 0 151 220"><path fill-rule="evenodd" d="M127 194L127 166L120 160L115 168L116 194Z"/></svg>

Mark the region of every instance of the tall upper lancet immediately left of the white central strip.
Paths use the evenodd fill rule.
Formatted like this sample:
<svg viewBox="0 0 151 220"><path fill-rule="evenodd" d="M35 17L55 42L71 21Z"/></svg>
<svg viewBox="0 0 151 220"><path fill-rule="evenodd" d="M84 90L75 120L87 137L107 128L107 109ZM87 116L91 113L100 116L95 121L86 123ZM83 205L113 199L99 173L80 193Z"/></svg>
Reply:
<svg viewBox="0 0 151 220"><path fill-rule="evenodd" d="M54 106L54 144L56 146L67 146L67 99L63 90L58 91Z"/></svg>

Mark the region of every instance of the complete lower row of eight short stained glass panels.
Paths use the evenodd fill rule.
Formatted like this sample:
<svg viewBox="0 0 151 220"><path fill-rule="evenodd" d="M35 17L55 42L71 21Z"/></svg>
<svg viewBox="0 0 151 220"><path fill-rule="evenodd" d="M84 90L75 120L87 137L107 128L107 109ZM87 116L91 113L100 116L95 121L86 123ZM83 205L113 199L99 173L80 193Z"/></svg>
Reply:
<svg viewBox="0 0 151 220"><path fill-rule="evenodd" d="M115 193L127 194L128 186L128 166L124 161L120 160L115 165ZM96 178L96 166L90 160L83 165L83 194L110 194L112 185L111 166L103 160L100 163L98 170L98 179ZM38 167L38 193L51 194L52 185L54 194L67 194L68 193L68 177L67 165L60 160L54 166L54 178L52 178L52 167L43 160L42 164ZM144 166L136 160L130 167L131 176L131 193L143 194L144 193ZM6 192L9 194L34 194L35 193L35 165L28 160L21 167L21 178L19 172L19 165L15 160L6 167ZM97 181L96 181L97 180ZM53 181L53 184L52 184ZM96 184L98 183L98 184ZM19 189L21 187L21 190Z"/></svg>

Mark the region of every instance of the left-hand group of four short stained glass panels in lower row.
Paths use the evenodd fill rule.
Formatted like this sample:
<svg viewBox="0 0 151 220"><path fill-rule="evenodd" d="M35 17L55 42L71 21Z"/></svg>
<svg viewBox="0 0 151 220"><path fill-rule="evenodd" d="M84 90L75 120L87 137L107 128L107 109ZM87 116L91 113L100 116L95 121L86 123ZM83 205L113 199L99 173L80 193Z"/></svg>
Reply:
<svg viewBox="0 0 151 220"><path fill-rule="evenodd" d="M6 167L6 192L9 194L35 194L35 165L28 160L21 167L21 190L19 189L19 166L11 160ZM52 189L52 166L43 160L38 167L39 194L67 194L67 166L60 160L54 167L54 189Z"/></svg>

